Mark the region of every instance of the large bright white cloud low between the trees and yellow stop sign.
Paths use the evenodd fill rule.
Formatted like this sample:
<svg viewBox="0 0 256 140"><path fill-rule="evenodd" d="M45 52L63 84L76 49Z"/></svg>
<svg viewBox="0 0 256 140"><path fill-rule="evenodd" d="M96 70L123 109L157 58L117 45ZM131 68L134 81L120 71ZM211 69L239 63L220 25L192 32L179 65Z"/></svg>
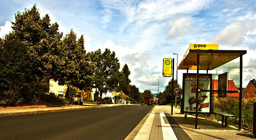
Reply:
<svg viewBox="0 0 256 140"><path fill-rule="evenodd" d="M116 57L118 57L120 62L120 69L122 69L125 63L128 65L131 71L131 75L129 76L132 81L131 84L140 87L140 92L147 89L150 90L153 85L156 85L156 79L161 77L161 73L157 72L156 69L159 64L156 65L154 62L152 52L116 45L113 41L106 41L106 43L100 47L102 51L104 51L105 48L109 48L116 53ZM162 80L162 82L163 81L165 80Z"/></svg>

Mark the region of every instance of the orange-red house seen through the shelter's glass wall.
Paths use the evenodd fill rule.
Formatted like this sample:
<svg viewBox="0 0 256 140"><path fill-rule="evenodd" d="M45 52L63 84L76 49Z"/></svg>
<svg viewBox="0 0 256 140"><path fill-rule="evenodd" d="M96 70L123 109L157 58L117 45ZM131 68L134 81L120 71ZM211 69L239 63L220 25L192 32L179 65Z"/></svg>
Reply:
<svg viewBox="0 0 256 140"><path fill-rule="evenodd" d="M239 97L238 89L233 80L228 80L227 91L237 91L235 93L227 93L227 97ZM218 80L212 80L212 90L218 90ZM212 96L217 97L218 92L212 92Z"/></svg>

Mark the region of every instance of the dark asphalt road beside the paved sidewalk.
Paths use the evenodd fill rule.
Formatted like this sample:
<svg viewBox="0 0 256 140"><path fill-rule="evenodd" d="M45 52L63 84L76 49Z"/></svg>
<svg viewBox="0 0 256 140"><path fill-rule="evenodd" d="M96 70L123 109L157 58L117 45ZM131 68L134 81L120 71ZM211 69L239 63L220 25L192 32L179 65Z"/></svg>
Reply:
<svg viewBox="0 0 256 140"><path fill-rule="evenodd" d="M124 139L153 106L0 116L0 139Z"/></svg>

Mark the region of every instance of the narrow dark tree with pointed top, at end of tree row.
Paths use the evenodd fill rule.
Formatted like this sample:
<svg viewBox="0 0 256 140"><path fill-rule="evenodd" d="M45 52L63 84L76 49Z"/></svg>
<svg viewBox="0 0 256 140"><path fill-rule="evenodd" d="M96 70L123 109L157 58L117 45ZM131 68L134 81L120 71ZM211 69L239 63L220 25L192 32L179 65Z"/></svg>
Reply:
<svg viewBox="0 0 256 140"><path fill-rule="evenodd" d="M122 90L126 95L130 95L130 83L131 80L129 79L129 75L131 74L131 71L129 71L129 67L127 66L127 64L124 65L124 67L122 68L122 79L120 82L120 90Z"/></svg>

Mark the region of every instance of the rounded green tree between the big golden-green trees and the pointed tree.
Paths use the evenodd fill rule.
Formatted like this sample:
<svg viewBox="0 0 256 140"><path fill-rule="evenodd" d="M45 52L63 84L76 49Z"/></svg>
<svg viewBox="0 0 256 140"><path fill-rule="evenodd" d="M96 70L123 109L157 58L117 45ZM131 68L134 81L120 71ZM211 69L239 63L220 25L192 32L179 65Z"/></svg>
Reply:
<svg viewBox="0 0 256 140"><path fill-rule="evenodd" d="M120 64L115 52L111 52L108 48L102 53L101 50L92 52L92 62L96 62L94 83L98 89L100 99L102 94L107 91L113 91L119 83Z"/></svg>

